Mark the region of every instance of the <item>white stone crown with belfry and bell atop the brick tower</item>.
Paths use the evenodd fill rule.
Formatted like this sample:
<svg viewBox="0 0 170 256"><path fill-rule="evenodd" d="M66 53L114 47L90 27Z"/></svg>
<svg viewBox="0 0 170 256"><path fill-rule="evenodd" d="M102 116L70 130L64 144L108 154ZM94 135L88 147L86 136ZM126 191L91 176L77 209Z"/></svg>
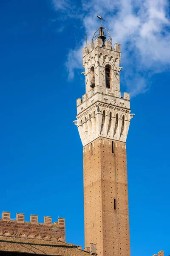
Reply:
<svg viewBox="0 0 170 256"><path fill-rule="evenodd" d="M97 29L99 35L95 32L83 49L86 93L77 99L77 127L83 146L98 137L126 142L130 125L130 96L124 93L121 97L120 92L120 44L113 49L110 33L106 41L104 29Z"/></svg>

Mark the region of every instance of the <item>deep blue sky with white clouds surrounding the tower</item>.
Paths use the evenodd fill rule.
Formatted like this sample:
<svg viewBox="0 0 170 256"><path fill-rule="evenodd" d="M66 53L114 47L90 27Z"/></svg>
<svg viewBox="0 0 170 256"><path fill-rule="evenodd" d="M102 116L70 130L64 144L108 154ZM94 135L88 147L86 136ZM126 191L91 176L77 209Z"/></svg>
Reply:
<svg viewBox="0 0 170 256"><path fill-rule="evenodd" d="M85 93L81 49L102 12L122 47L130 92L127 137L131 256L170 254L170 19L165 0L1 0L0 212L66 219L84 245L82 144L76 99ZM89 6L92 7L89 9ZM102 6L102 10L100 9Z"/></svg>

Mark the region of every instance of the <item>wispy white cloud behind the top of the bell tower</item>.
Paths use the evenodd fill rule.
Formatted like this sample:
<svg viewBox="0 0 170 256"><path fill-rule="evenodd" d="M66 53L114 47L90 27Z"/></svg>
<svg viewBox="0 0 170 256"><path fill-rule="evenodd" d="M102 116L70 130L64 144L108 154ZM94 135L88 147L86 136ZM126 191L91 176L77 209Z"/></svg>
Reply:
<svg viewBox="0 0 170 256"><path fill-rule="evenodd" d="M81 9L70 0L53 0L56 11L66 11L70 18L81 19L88 38L99 26L96 14L102 12L112 41L122 47L122 80L132 96L150 87L154 73L170 66L170 18L167 0L82 0ZM81 15L80 15L81 11ZM68 53L69 78L82 63L82 42ZM71 65L70 65L71 64Z"/></svg>

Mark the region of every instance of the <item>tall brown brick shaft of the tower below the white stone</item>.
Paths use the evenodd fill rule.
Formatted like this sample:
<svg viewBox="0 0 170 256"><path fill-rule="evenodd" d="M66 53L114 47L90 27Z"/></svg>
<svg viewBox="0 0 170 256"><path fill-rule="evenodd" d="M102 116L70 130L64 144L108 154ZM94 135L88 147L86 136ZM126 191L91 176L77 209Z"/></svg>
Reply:
<svg viewBox="0 0 170 256"><path fill-rule="evenodd" d="M112 153L112 141L99 137L83 148L85 247L95 243L98 256L130 256L126 143L113 141Z"/></svg>

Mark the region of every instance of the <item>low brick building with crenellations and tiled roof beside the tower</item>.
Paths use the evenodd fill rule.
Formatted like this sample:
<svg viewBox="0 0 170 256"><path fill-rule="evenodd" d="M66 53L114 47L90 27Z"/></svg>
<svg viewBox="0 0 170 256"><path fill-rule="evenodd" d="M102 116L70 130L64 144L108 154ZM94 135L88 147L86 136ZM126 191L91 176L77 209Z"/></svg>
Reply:
<svg viewBox="0 0 170 256"><path fill-rule="evenodd" d="M56 256L96 255L96 244L82 250L81 246L65 242L65 219L45 216L44 223L38 222L38 215L24 220L23 213L17 213L11 220L10 212L3 212L0 219L0 255L46 254Z"/></svg>

